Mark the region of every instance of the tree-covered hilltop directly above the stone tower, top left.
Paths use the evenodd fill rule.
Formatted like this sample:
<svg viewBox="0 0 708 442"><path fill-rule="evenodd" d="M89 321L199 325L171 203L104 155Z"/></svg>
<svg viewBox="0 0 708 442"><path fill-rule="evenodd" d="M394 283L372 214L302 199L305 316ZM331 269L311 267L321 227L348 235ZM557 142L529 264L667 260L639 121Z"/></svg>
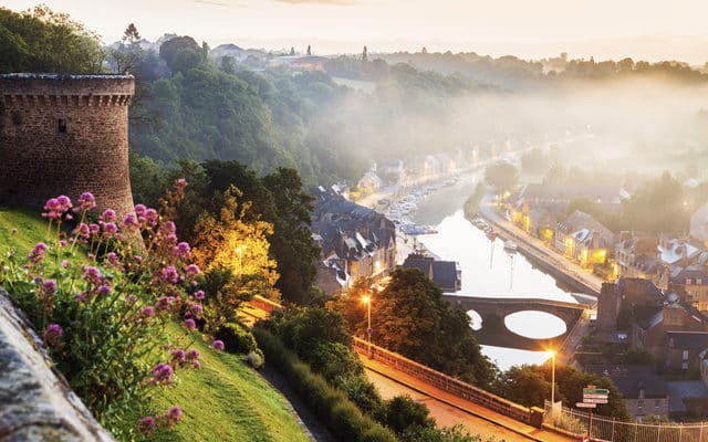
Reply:
<svg viewBox="0 0 708 442"><path fill-rule="evenodd" d="M65 13L0 8L0 73L98 73L104 55L97 35Z"/></svg>

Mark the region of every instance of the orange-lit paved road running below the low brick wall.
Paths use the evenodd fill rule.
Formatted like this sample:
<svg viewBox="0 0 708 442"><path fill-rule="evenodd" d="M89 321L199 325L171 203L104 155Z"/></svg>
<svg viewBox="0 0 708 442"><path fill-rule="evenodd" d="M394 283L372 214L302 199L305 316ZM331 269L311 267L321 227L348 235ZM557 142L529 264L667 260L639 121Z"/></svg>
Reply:
<svg viewBox="0 0 708 442"><path fill-rule="evenodd" d="M409 394L414 400L428 406L430 415L441 427L462 424L472 434L485 439L511 441L568 442L564 435L537 429L517 420L447 393L375 360L362 358L366 375L384 398Z"/></svg>

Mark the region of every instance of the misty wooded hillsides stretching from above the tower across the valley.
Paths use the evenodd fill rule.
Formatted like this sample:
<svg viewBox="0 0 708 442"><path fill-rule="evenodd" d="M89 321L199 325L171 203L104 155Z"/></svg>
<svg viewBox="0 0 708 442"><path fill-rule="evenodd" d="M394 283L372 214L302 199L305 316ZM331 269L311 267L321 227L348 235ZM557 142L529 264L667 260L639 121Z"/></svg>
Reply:
<svg viewBox="0 0 708 442"><path fill-rule="evenodd" d="M327 185L355 183L393 158L485 159L524 147L551 164L617 176L628 165L658 175L663 165L700 178L707 158L708 75L680 61L528 61L424 48L313 57L321 66L302 67L281 62L285 53L210 49L188 35L148 42L134 25L105 46L42 7L0 9L0 42L3 73L135 75L131 148L160 167L238 160L260 175L291 167L305 185Z"/></svg>

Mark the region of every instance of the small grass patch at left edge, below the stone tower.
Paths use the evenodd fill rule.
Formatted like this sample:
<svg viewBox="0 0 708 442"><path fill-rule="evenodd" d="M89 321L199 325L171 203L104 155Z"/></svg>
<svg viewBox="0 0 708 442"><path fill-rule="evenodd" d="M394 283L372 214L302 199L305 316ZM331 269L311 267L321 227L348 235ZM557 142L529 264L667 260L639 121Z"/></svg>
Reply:
<svg viewBox="0 0 708 442"><path fill-rule="evenodd" d="M12 230L17 229L17 233ZM0 253L15 248L18 253L27 255L34 244L44 241L46 221L38 210L8 209L0 207Z"/></svg>

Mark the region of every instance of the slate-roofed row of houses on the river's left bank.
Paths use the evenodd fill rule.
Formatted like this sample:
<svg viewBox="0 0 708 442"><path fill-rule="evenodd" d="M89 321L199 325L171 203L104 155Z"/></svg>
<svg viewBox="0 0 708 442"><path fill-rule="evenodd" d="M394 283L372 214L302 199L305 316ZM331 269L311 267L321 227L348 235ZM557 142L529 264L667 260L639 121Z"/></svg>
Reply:
<svg viewBox="0 0 708 442"><path fill-rule="evenodd" d="M312 231L322 248L317 286L343 292L360 277L378 278L396 265L396 227L383 214L320 187Z"/></svg>

